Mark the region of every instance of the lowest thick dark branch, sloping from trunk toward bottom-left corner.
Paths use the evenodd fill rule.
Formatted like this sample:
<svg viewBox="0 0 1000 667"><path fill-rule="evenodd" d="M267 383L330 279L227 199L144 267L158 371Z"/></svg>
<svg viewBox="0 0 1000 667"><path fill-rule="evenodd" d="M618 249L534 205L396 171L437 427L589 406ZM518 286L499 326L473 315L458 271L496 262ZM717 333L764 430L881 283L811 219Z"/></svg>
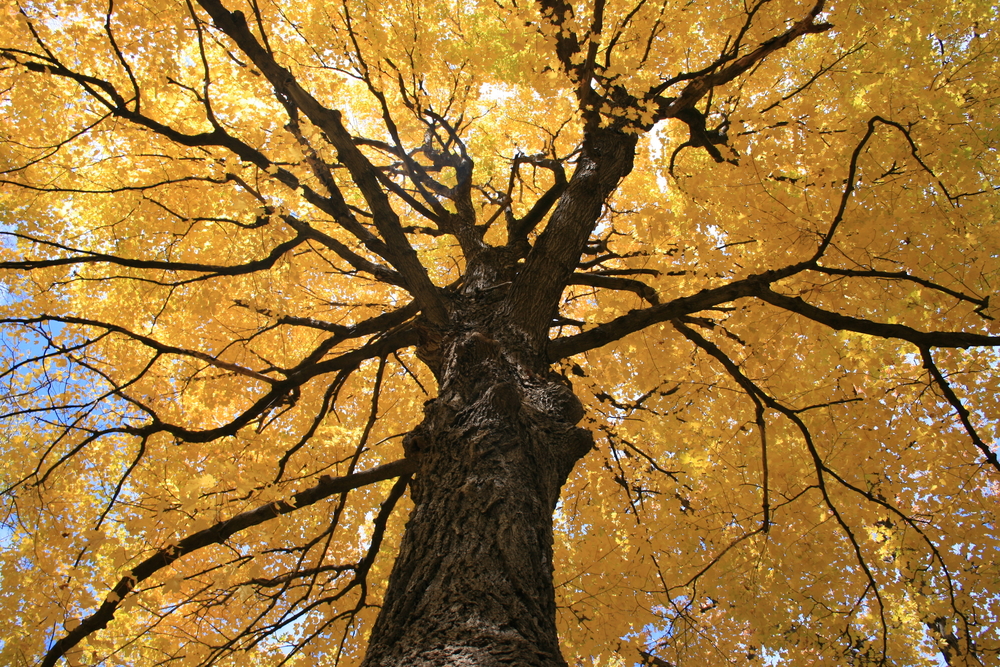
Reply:
<svg viewBox="0 0 1000 667"><path fill-rule="evenodd" d="M177 544L158 550L119 579L97 611L83 619L80 625L67 632L64 637L52 645L42 660L42 667L53 667L61 657L66 655L67 651L79 644L85 637L106 628L126 595L178 558L212 544L221 544L240 531L308 507L334 494L346 493L375 482L409 475L415 470L416 465L412 461L400 459L353 475L321 478L319 484L293 494L288 500L271 502L257 509L237 514L231 519L220 521L204 530L188 535Z"/></svg>

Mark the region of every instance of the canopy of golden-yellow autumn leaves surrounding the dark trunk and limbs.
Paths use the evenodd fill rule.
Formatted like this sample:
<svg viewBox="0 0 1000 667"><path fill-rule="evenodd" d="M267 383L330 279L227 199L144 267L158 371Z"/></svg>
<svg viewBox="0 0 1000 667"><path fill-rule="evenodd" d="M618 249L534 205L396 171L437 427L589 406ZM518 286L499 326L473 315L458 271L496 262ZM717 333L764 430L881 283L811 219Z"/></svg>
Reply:
<svg viewBox="0 0 1000 667"><path fill-rule="evenodd" d="M560 62L560 40L578 40L573 66L594 47L602 121L639 131L659 103L615 95L641 98L689 74L657 93L677 95L690 73L746 55L811 4L762 3L750 17L731 2L605 3L599 32L588 3L560 22L485 1L227 6L241 7L255 39L351 133L380 142L361 149L383 185L415 198L397 191L392 202L444 286L460 284L465 258L413 205L423 200L400 154L443 190L459 185L441 162L457 144L443 130L430 136L426 111L454 121L475 163L477 222L497 220L485 238L502 245L506 212L524 218L556 183L527 162L511 178L515 160L560 160L568 173L578 163L580 82ZM699 101L706 129L725 138L724 162L678 150L691 135L676 120L644 135L584 270L640 280L666 303L806 261L829 236L814 266L773 289L920 331L995 330L980 316L993 315L986 297L1000 269L995 10L826 9L834 30ZM288 646L302 661L338 651L358 661L374 614L364 605L379 600L405 520L390 518L362 601L346 582L367 555L385 485L181 559L123 598L111 587L151 550L281 506L320 475L401 456L398 436L436 388L409 350L347 356L405 333L409 319L351 333L408 298L332 250L381 261L343 224L350 213L374 234L364 193L329 137L303 118L293 128L287 97L200 9L26 8L58 62L14 4L4 10L20 18L0 43L0 252L34 264L5 272L0 307L19 360L2 368L0 581L17 583L3 604L18 624L0 655L36 656L41 629L72 632L107 601L129 613L73 660L110 659L135 641L122 659L137 665L156 652L264 664ZM862 143L876 115L896 125ZM322 208L338 192L343 206ZM544 229L543 219L529 240ZM87 261L59 263L67 257ZM573 285L553 335L647 308L643 294ZM72 313L91 323L59 319ZM36 317L49 322L24 322ZM720 652L844 664L885 650L917 665L953 632L994 650L985 624L958 619L995 612L996 482L919 350L750 298L689 313L685 326L739 374L662 323L567 364L599 441L556 512L567 653L594 664L638 662L640 650L675 664ZM993 446L995 352L934 359ZM331 360L343 363L308 375ZM148 434L149 423L176 428ZM177 613L160 618L168 609ZM229 654L209 648L231 640Z"/></svg>

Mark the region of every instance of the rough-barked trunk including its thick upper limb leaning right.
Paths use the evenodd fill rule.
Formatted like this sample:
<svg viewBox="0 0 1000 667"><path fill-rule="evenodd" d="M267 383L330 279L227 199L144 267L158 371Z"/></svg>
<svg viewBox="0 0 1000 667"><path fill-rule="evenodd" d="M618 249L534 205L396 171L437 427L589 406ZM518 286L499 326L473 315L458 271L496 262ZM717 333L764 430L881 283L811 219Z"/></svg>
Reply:
<svg viewBox="0 0 1000 667"><path fill-rule="evenodd" d="M576 426L583 407L569 382L549 367L548 329L635 145L590 127L528 256L524 239L482 244L467 254L460 292L444 297L447 324L426 317L419 327L417 354L440 389L404 440L415 506L364 667L566 664L552 515L594 441Z"/></svg>

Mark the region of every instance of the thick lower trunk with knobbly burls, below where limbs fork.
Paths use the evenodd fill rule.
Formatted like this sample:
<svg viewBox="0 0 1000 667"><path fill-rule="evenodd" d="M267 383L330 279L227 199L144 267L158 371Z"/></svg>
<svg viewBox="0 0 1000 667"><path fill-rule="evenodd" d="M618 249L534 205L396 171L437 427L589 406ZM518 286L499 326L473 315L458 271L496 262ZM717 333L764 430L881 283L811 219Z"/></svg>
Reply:
<svg viewBox="0 0 1000 667"><path fill-rule="evenodd" d="M567 382L506 338L440 342L440 395L404 442L415 507L365 667L566 664L552 514L593 438Z"/></svg>

